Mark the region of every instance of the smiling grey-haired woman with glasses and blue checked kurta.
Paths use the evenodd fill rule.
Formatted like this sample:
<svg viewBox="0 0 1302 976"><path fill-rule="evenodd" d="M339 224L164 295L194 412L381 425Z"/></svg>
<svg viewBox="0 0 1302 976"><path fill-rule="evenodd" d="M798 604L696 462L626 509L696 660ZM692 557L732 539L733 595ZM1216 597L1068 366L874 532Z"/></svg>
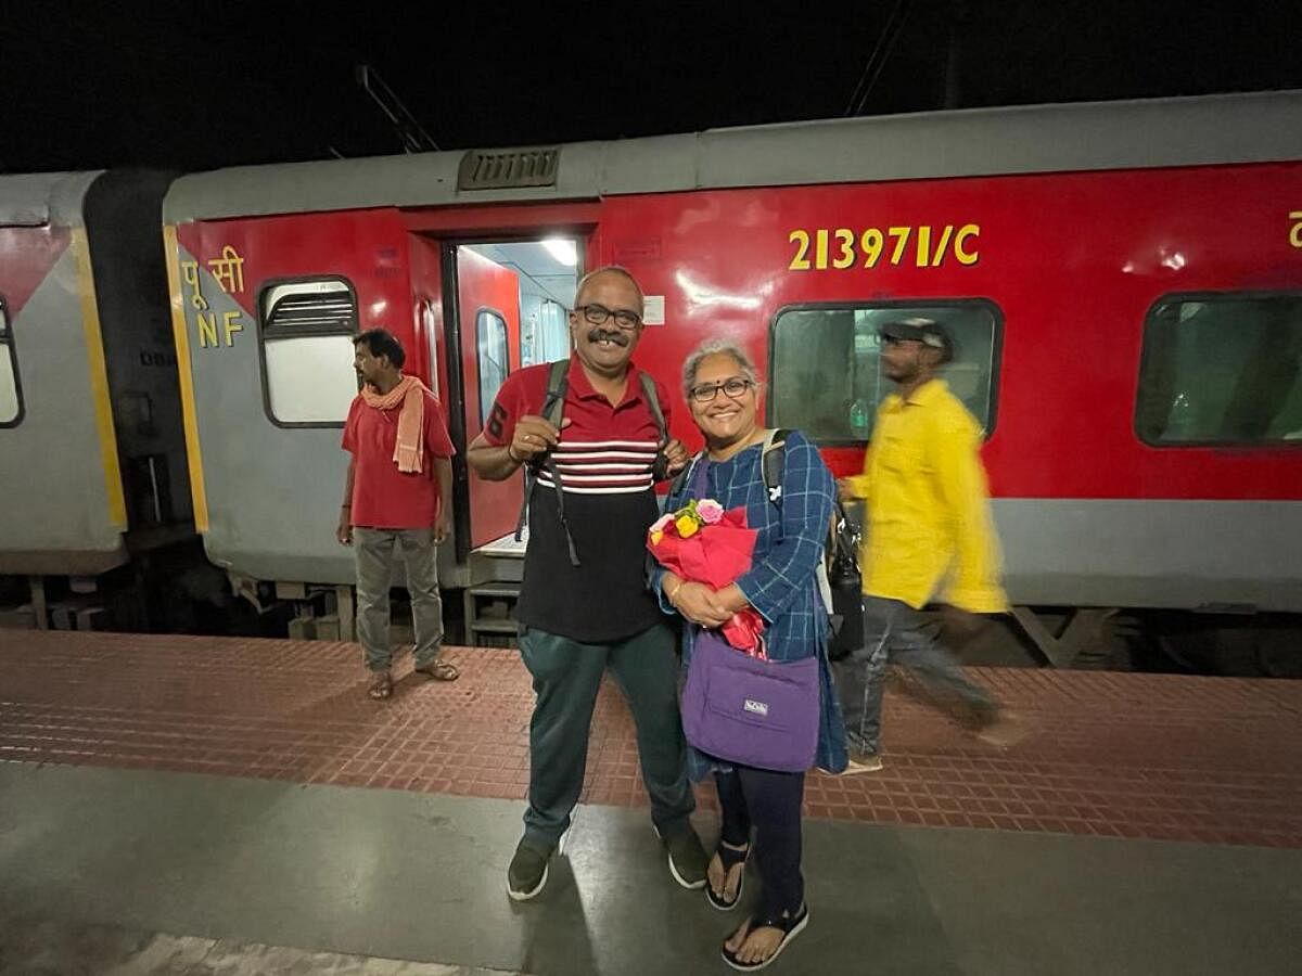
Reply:
<svg viewBox="0 0 1302 976"><path fill-rule="evenodd" d="M729 513L743 511L743 524L756 534L750 569L719 590L663 567L651 573L661 609L678 613L689 625L684 631L689 769L697 779L713 773L723 820L706 890L713 907L727 911L741 902L745 864L753 843L758 845L763 886L758 910L721 946L728 964L742 971L767 966L807 924L799 842L805 772L814 765L840 772L846 764L827 660L827 610L816 578L835 504L832 475L814 445L790 431L781 487L769 495L763 476L769 432L759 423L759 386L750 357L728 340L707 340L687 357L682 389L706 450L665 500L667 511L693 500L698 502L695 511L703 500L713 500ZM732 660L740 652L724 647L720 653L715 632L727 631L737 614L746 613L764 621L764 662L742 677L740 664ZM773 682L799 692L779 708L769 696ZM736 742L719 734L719 725L729 720L686 722L693 687L703 688L697 700L708 704L702 712L736 716L736 703L743 703L740 708L745 714L732 721L747 729L746 738L753 739L747 748L762 740L759 730L771 709L775 714L781 711L784 722L806 722L809 755L799 756L799 747L796 759L777 755L768 744L741 755ZM801 718L790 717L797 713ZM777 748L786 748L792 727L783 726L784 744Z"/></svg>

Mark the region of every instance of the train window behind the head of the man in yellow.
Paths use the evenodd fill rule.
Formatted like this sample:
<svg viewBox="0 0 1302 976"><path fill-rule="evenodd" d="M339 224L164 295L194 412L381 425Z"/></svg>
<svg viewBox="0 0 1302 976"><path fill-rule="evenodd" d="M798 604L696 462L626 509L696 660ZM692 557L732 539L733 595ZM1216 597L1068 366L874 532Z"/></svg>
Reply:
<svg viewBox="0 0 1302 976"><path fill-rule="evenodd" d="M1004 316L987 299L809 305L783 308L769 337L767 422L819 444L862 444L893 389L878 329L894 319L939 321L954 340L940 376L987 432L995 427Z"/></svg>

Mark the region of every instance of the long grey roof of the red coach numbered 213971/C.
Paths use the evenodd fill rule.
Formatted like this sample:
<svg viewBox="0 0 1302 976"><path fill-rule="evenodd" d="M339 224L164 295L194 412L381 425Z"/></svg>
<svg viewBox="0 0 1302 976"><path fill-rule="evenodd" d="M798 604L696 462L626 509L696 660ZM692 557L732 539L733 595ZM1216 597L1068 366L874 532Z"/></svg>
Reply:
<svg viewBox="0 0 1302 976"><path fill-rule="evenodd" d="M544 148L560 156L555 185L543 187L458 190L465 151L197 173L173 183L164 219L1297 160L1302 90L785 122Z"/></svg>

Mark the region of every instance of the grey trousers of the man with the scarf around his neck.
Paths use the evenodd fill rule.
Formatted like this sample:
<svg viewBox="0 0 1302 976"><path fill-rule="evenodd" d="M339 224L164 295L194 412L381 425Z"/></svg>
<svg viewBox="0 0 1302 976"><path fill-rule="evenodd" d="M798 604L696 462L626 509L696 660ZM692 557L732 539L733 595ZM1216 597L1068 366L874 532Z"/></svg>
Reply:
<svg viewBox="0 0 1302 976"><path fill-rule="evenodd" d="M354 528L357 558L357 636L366 666L388 670L389 583L395 563L406 565L408 592L415 623L415 666L434 664L443 643L443 597L439 595L439 547L432 528Z"/></svg>

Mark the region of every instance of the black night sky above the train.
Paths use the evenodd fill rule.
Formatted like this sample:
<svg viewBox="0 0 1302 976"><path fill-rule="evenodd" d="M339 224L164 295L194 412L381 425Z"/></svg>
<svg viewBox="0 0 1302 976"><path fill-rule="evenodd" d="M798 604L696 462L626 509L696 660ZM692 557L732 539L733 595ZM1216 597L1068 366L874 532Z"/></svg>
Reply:
<svg viewBox="0 0 1302 976"><path fill-rule="evenodd" d="M1299 8L3 0L0 172L401 151L363 62L445 150L842 116L884 35L861 115L935 109L952 25L960 107L1302 87Z"/></svg>

